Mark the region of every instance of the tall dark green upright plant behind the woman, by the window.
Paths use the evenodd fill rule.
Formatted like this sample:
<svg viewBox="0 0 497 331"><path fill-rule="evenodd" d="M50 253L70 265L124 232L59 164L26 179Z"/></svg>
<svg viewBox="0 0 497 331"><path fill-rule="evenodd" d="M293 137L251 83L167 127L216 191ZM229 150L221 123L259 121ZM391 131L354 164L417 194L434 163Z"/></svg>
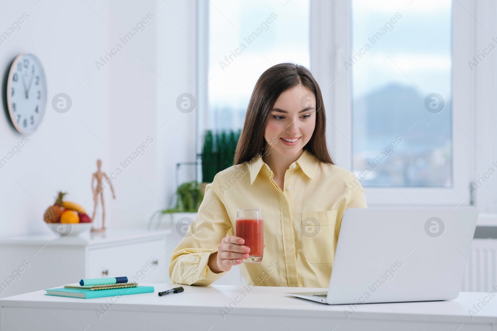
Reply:
<svg viewBox="0 0 497 331"><path fill-rule="evenodd" d="M203 182L212 182L218 172L233 165L240 133L241 130L222 131L218 134L211 130L205 132L201 154Z"/></svg>

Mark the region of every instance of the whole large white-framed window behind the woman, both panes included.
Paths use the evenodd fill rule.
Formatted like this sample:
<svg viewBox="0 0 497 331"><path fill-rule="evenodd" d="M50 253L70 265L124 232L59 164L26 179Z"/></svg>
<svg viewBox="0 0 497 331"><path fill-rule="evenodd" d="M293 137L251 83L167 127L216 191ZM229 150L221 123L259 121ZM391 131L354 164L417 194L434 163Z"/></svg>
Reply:
<svg viewBox="0 0 497 331"><path fill-rule="evenodd" d="M470 183L497 155L488 142L495 61L468 66L497 32L494 2L483 2L198 1L197 151L206 131L241 129L259 75L291 61L318 80L331 156L357 176L368 205L478 200ZM479 200L495 187L487 181Z"/></svg>

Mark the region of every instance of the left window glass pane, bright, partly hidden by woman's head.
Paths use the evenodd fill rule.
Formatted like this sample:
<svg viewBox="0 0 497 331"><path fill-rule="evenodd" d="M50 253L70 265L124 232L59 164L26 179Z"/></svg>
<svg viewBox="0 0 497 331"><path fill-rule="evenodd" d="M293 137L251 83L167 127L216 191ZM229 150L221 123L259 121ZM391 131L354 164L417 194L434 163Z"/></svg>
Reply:
<svg viewBox="0 0 497 331"><path fill-rule="evenodd" d="M252 89L270 66L310 66L309 0L210 0L205 130L243 127Z"/></svg>

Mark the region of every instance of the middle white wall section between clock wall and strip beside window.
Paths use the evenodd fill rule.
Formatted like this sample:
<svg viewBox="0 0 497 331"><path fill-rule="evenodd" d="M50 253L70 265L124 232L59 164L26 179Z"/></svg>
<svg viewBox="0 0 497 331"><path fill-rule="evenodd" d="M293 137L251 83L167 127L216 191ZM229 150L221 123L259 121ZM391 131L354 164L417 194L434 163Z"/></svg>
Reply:
<svg viewBox="0 0 497 331"><path fill-rule="evenodd" d="M111 202L111 227L131 227L143 223L156 208L156 201L148 191L155 192L157 133L156 133L156 26L158 20L155 1L128 1L126 5L111 1L108 48L130 32L147 13L153 18L144 24L145 30L138 32L131 41L109 63L109 134L110 164L107 171L120 168L113 185L116 200ZM103 50L102 50L103 53ZM143 59L143 60L142 60ZM150 66L150 67L149 67ZM105 67L106 69L107 67ZM127 168L124 160L132 156L136 148L147 137L153 142ZM137 154L135 154L136 156ZM144 187L143 184L146 187ZM110 195L107 195L110 201Z"/></svg>

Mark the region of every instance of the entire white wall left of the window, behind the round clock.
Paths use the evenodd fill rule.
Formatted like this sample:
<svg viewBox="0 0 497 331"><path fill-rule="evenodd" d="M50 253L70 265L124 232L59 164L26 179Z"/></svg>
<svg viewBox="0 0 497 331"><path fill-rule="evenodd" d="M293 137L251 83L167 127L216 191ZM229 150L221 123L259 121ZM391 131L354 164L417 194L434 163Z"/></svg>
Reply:
<svg viewBox="0 0 497 331"><path fill-rule="evenodd" d="M0 236L48 231L43 212L59 190L89 201L97 158L108 175L123 170L113 183L116 199L104 192L106 225L144 226L174 193L175 163L194 161L194 113L175 108L177 95L194 94L194 1L8 1L0 4L1 33L23 12L29 18L0 45L0 68L4 74L22 52L40 59L46 122L0 169ZM148 12L154 17L145 30L124 45L119 38ZM116 43L122 50L98 70L95 62ZM60 92L73 100L65 114L51 108ZM119 162L148 136L154 142L124 169ZM22 137L0 115L1 157Z"/></svg>

